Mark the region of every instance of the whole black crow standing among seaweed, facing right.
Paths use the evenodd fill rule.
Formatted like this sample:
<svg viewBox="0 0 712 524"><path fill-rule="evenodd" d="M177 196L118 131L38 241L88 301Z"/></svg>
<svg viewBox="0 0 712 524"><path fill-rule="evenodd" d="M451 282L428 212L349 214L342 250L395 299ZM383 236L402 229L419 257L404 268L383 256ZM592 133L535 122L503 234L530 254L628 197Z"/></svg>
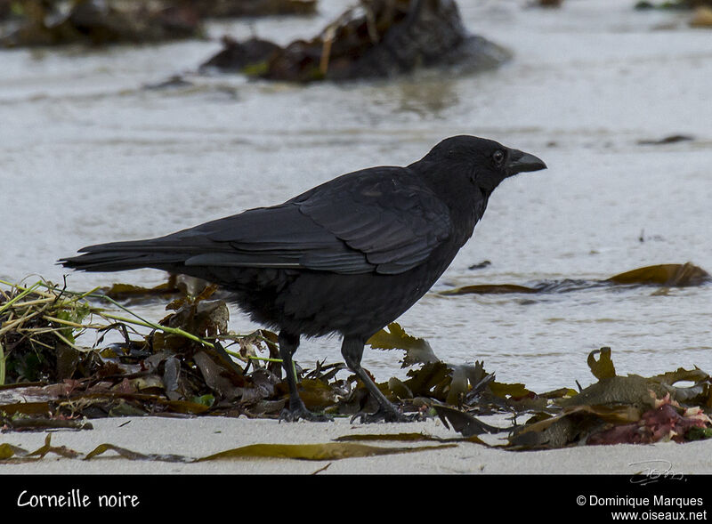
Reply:
<svg viewBox="0 0 712 524"><path fill-rule="evenodd" d="M231 292L255 322L279 331L286 420L328 420L299 398L292 358L302 336L341 335L346 365L378 401L361 420L404 421L360 365L366 341L440 278L499 182L545 168L497 141L453 136L406 167L346 173L278 206L166 237L87 246L58 262L86 271L166 270Z"/></svg>

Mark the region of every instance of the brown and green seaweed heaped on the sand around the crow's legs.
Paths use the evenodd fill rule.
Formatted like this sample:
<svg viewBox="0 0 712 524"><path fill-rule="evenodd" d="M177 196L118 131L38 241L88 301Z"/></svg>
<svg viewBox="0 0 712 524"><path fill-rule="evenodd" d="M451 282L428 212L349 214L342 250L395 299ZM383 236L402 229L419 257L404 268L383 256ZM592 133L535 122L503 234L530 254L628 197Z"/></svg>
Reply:
<svg viewBox="0 0 712 524"><path fill-rule="evenodd" d="M661 289L709 281L692 264L621 275L606 282ZM287 403L277 335L264 329L232 333L229 309L215 286L187 294L172 278L152 289L117 285L77 293L44 280L0 284L7 287L0 287L3 431L89 429L93 418L127 415L279 418ZM152 322L117 300L146 297L169 301L165 318ZM92 346L85 347L92 335ZM506 443L498 446L521 450L712 437L712 378L699 368L620 376L611 349L602 348L588 357L596 383L536 393L522 383L498 383L481 362L440 359L427 341L397 323L368 343L404 351L408 378L379 384L389 399L406 412L440 416L469 441L485 444L481 435L506 433ZM295 365L294 372L312 410L353 417L376 409L368 390L341 363ZM509 415L513 423L495 427L477 418L496 414ZM522 417L526 421L517 422Z"/></svg>

